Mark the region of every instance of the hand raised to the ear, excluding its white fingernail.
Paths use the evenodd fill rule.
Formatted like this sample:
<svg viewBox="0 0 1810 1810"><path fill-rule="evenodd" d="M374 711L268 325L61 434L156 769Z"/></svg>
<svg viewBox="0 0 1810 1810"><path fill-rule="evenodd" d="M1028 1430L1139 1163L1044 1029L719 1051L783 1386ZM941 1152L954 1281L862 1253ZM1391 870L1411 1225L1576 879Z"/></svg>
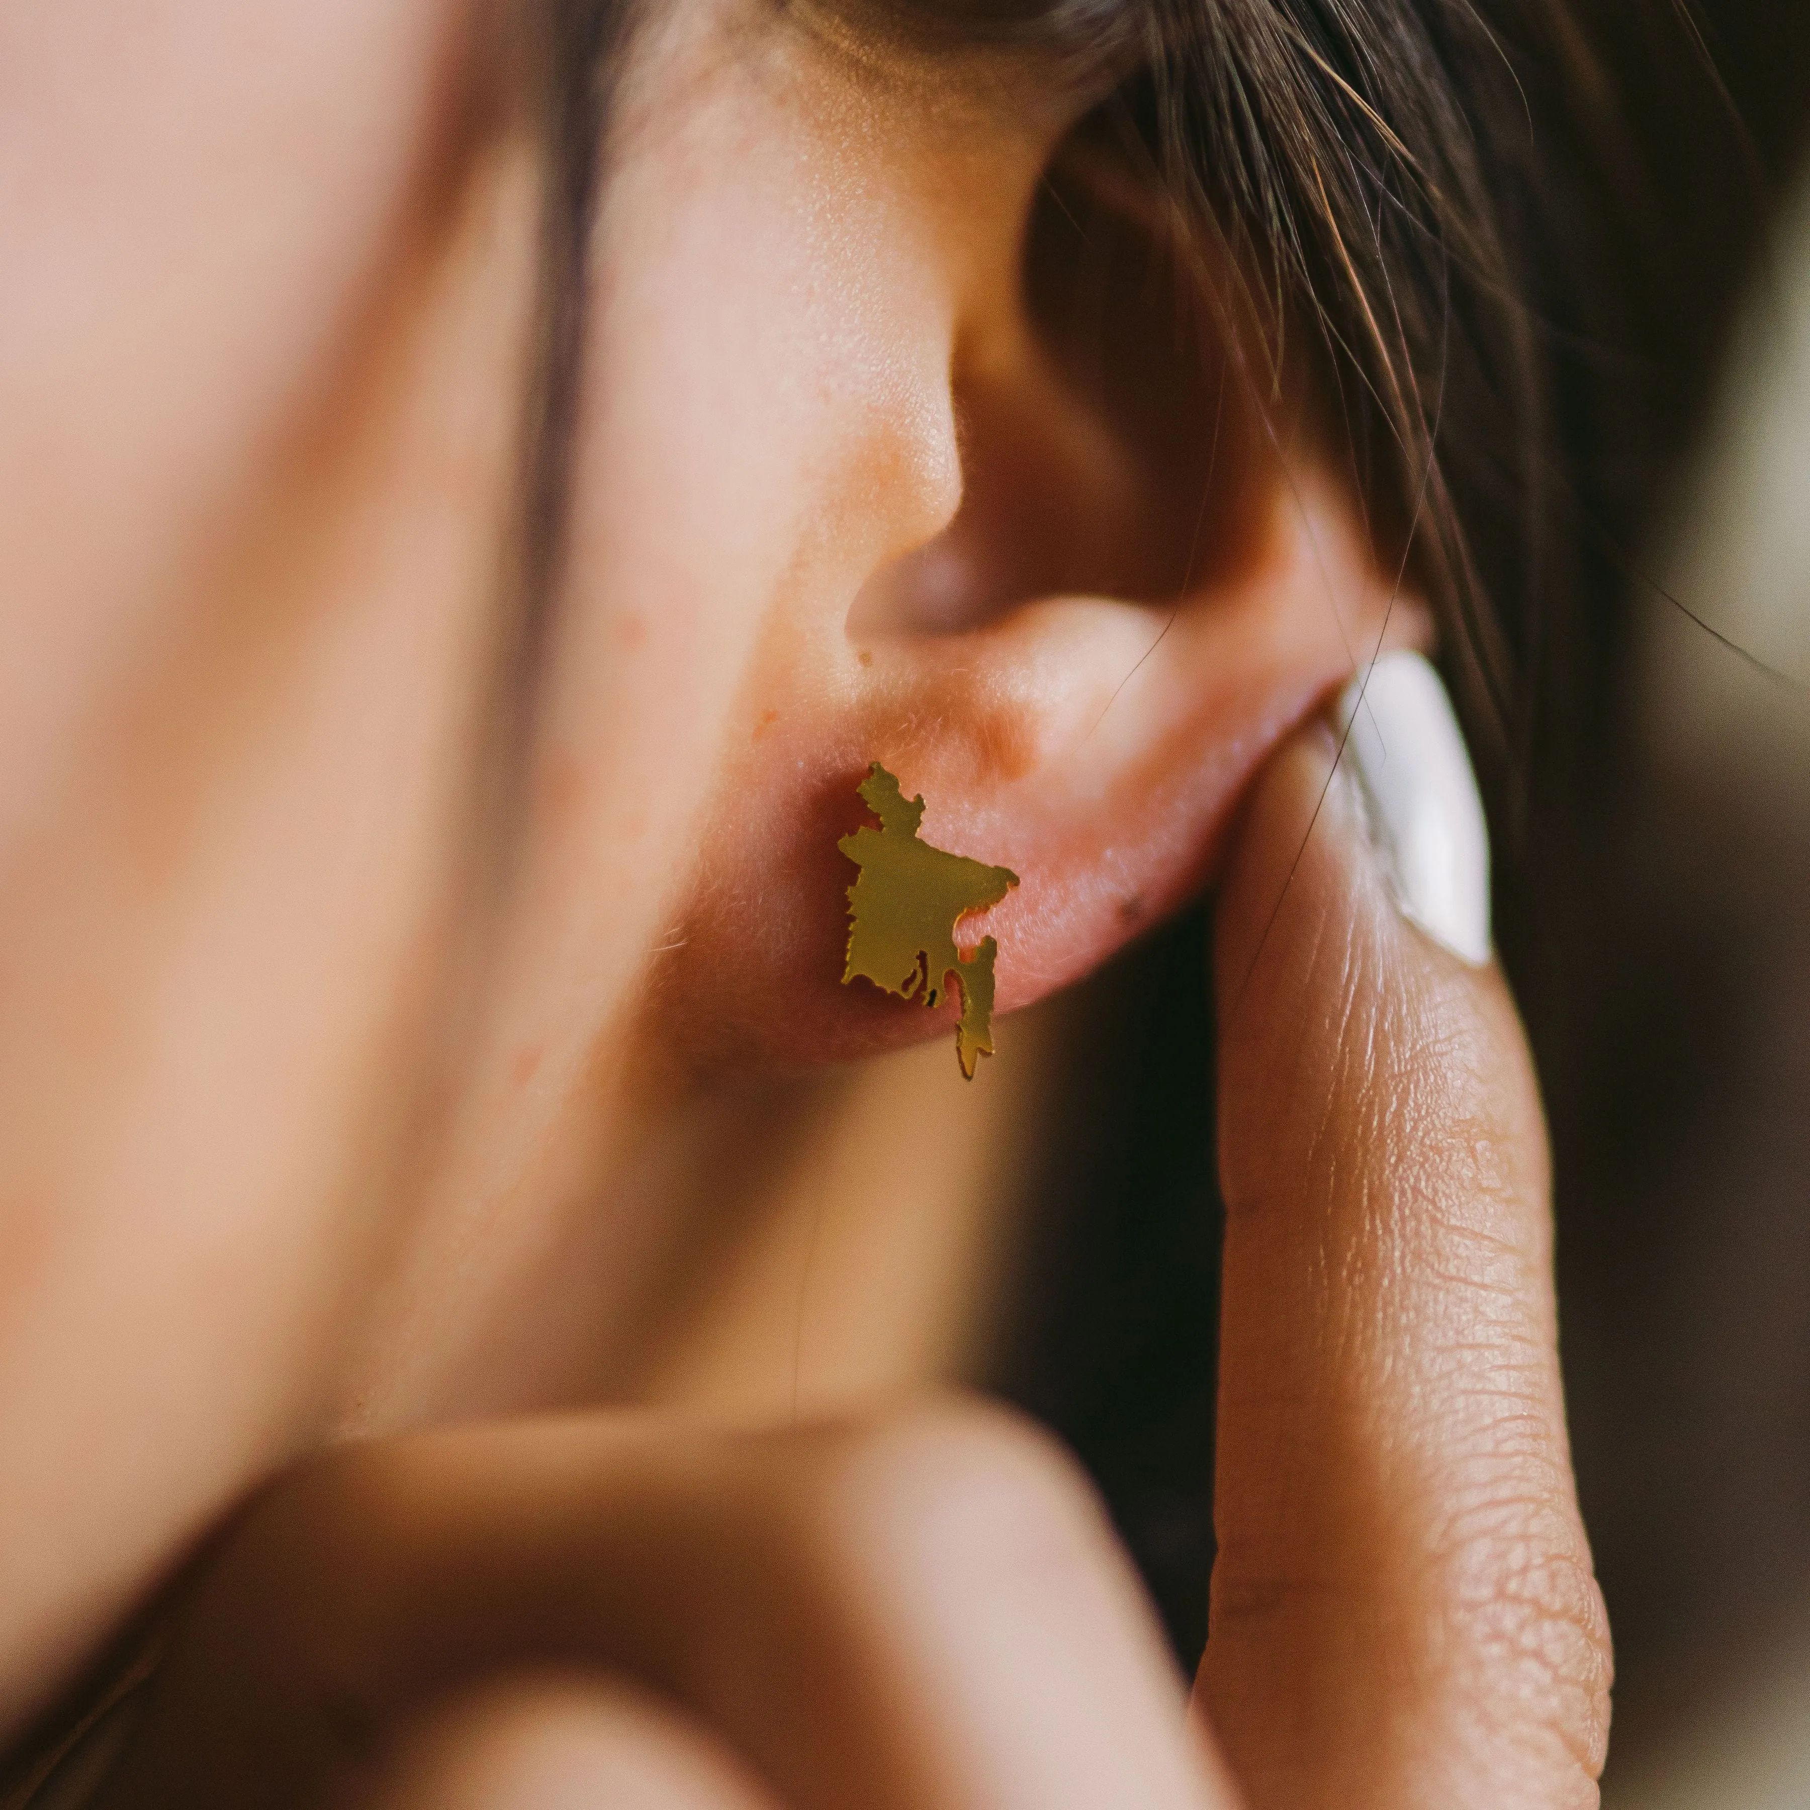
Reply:
<svg viewBox="0 0 1810 1810"><path fill-rule="evenodd" d="M1412 724L1383 729L1405 758ZM1316 726L1272 762L1220 909L1193 1732L1086 1486L1010 1419L588 1417L275 1486L190 1602L107 1810L1593 1803L1607 1640L1528 1057L1495 970L1397 912L1332 755Z"/></svg>

